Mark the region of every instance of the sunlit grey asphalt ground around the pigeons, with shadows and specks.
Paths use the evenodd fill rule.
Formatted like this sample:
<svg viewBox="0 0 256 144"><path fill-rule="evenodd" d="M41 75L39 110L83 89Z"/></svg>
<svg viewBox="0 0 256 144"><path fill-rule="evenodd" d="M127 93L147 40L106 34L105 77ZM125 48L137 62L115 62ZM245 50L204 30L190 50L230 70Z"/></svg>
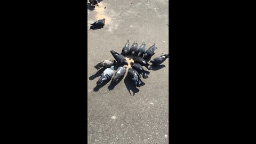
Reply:
<svg viewBox="0 0 256 144"><path fill-rule="evenodd" d="M105 27L87 31L88 143L169 143L169 59L162 63L165 67L149 70L149 77L142 78L145 85L138 88L126 75L115 87L109 86L110 82L97 87L102 70L97 72L93 67L113 59L111 50L121 53L127 39L130 45L135 40L138 45L145 42L146 49L156 43L158 49L153 58L169 53L169 2L99 2L100 7L94 10L87 7L87 29L90 23L106 18Z"/></svg>

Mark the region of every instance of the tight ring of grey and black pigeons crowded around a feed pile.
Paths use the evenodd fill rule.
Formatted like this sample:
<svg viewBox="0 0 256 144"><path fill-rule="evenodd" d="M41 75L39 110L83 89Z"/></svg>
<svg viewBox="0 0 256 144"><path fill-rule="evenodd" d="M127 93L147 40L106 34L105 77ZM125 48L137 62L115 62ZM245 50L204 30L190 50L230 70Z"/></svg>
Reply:
<svg viewBox="0 0 256 144"><path fill-rule="evenodd" d="M148 78L147 74L148 71L143 69L142 66L145 66L148 70L152 69L152 65L159 66L161 63L163 63L167 58L169 58L169 53L161 55L159 57L154 58L153 60L150 60L152 65L149 65L149 63L146 61L146 59L150 59L154 54L155 50L157 49L156 44L150 46L145 51L145 43L143 42L141 46L138 47L138 43L135 41L131 47L129 45L129 40L127 40L127 43L124 45L122 53L119 54L115 51L110 51L110 53L113 55L115 60L105 60L100 63L98 63L94 68L100 69L102 67L105 67L103 73L101 74L99 80L97 81L97 85L101 85L104 81L110 80L111 77L114 75L114 64L118 63L118 65L121 65L117 68L116 73L111 81L111 83L115 83L118 81L118 79L121 79L125 73L126 68L124 65L128 66L128 62L126 61L124 55L132 56L132 59L134 62L131 62L131 67L128 70L127 76L134 81L135 85L140 87L141 85L145 84L141 81L140 76L142 75L143 78Z"/></svg>

